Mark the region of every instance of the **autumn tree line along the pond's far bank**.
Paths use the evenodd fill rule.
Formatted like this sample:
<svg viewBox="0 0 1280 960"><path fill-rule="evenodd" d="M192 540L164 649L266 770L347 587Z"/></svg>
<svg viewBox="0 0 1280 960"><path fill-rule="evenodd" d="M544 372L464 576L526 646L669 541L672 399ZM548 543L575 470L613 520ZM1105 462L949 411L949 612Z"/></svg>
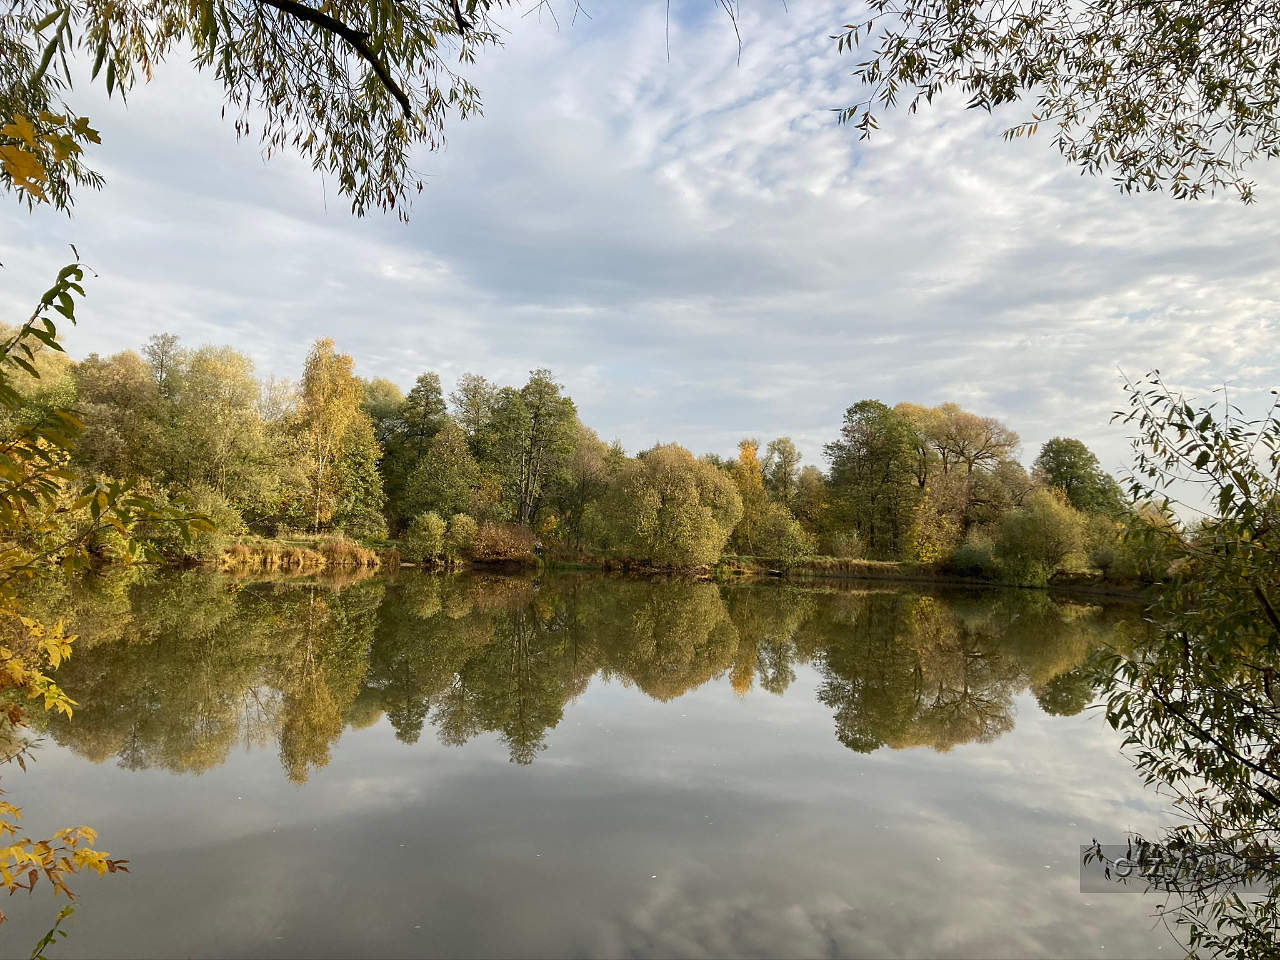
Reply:
<svg viewBox="0 0 1280 960"><path fill-rule="evenodd" d="M744 439L736 457L675 443L628 454L582 424L549 370L520 387L463 374L448 396L426 371L404 393L361 378L330 339L297 380L260 379L246 355L172 334L141 352L37 362L12 419L74 410L76 470L212 520L218 535L193 545L155 531L175 558L305 531L394 540L420 563L544 553L690 568L727 553L781 567L914 561L1019 582L1158 566L1123 536L1155 511L1135 509L1082 442L1048 440L1028 470L1012 429L955 403L859 401L822 468L788 436Z"/></svg>

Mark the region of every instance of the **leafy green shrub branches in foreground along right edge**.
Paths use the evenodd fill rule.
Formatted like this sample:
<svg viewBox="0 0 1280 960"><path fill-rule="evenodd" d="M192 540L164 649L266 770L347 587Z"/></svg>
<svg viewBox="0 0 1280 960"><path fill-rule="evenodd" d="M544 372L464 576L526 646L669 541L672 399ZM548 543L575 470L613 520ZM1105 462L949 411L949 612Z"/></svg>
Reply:
<svg viewBox="0 0 1280 960"><path fill-rule="evenodd" d="M1206 509L1188 538L1142 530L1172 557L1157 632L1105 659L1107 718L1181 820L1139 837L1148 855L1217 873L1160 884L1161 913L1193 952L1280 954L1280 416L1247 419L1226 394L1197 403L1158 375L1132 387L1132 486ZM1100 851L1101 852L1101 851ZM1239 884L1254 883L1243 892Z"/></svg>

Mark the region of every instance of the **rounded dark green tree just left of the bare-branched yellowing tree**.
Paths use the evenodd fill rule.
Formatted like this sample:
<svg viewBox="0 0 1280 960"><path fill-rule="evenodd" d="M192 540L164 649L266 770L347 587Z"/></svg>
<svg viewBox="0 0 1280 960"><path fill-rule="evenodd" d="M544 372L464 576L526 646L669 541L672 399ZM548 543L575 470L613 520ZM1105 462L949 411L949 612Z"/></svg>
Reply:
<svg viewBox="0 0 1280 960"><path fill-rule="evenodd" d="M877 557L899 559L910 550L910 530L920 486L918 433L879 401L845 411L840 439L828 443L832 499Z"/></svg>

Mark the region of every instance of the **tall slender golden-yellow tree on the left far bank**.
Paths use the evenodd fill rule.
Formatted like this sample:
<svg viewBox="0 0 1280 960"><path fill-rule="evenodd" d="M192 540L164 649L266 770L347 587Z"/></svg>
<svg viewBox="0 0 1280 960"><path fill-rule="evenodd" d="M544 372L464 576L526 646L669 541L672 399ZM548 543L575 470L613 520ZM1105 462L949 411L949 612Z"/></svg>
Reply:
<svg viewBox="0 0 1280 960"><path fill-rule="evenodd" d="M352 372L353 362L334 351L333 340L319 339L307 355L302 374L302 431L308 457L312 529L333 516L338 499L333 462L356 420L364 390Z"/></svg>

